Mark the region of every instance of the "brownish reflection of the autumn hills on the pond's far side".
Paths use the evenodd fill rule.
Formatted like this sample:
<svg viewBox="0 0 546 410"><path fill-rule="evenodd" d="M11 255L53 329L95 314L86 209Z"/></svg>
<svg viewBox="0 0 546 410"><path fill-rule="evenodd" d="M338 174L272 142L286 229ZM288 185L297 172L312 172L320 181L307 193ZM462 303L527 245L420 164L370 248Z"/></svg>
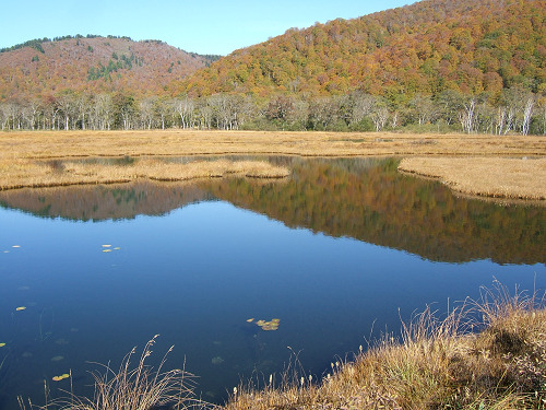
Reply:
<svg viewBox="0 0 546 410"><path fill-rule="evenodd" d="M45 218L132 219L222 199L330 236L403 249L435 261L546 262L546 208L461 198L437 181L401 175L397 161L277 157L284 181L245 178L194 184L135 181L111 186L0 192L0 204Z"/></svg>

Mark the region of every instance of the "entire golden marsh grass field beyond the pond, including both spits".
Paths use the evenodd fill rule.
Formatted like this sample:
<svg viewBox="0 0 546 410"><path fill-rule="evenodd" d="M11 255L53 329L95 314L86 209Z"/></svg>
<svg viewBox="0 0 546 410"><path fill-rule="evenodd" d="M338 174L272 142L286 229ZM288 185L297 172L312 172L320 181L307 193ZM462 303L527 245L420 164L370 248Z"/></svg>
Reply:
<svg viewBox="0 0 546 410"><path fill-rule="evenodd" d="M238 173L259 177L280 177L287 169L266 164L229 165L222 172L166 167L152 160L134 168L111 166L76 167L75 159L141 157L186 155L299 155L299 156L400 156L426 157L403 162L403 171L440 177L449 186L468 194L544 199L541 180L545 180L544 162L523 157L546 157L546 137L496 137L484 134L399 134L336 132L262 132L262 131L47 131L0 133L0 189L24 186L55 186L124 181L135 177L189 179ZM441 157L428 161L429 159ZM476 161L487 159L485 161ZM510 166L506 166L510 157ZM428 164L425 166L424 164ZM451 166L450 166L451 164ZM531 166L533 165L533 166ZM210 166L210 165L209 165ZM237 171L235 171L237 169ZM449 169L449 171L448 171ZM462 188L454 179L461 169L472 188ZM131 174L127 174L131 171ZM248 172L247 172L248 171ZM440 172L441 171L441 172ZM524 172L524 174L523 174ZM521 174L514 178L513 174ZM449 174L451 178L449 177ZM484 174L488 175L485 180ZM505 178L508 178L505 180ZM472 181L480 181L474 184ZM491 184L496 184L491 186ZM530 183L533 183L530 185ZM467 184L467 183L465 183ZM466 185L464 185L466 186ZM509 190L505 187L510 187ZM544 187L542 187L544 188Z"/></svg>

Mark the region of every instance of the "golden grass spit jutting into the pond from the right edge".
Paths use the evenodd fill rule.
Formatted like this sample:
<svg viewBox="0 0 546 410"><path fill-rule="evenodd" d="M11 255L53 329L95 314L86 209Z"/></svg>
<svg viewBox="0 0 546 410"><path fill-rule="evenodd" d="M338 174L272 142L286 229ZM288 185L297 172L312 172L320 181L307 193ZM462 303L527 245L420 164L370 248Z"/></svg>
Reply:
<svg viewBox="0 0 546 410"><path fill-rule="evenodd" d="M456 191L494 198L546 199L546 159L408 157L400 171L439 178Z"/></svg>

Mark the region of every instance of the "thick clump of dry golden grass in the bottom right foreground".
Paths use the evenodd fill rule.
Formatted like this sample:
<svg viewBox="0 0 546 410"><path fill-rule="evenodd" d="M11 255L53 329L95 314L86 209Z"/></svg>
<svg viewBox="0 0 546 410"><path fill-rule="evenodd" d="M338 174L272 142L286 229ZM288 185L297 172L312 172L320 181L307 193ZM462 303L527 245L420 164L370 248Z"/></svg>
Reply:
<svg viewBox="0 0 546 410"><path fill-rule="evenodd" d="M239 386L225 409L546 409L546 311L499 291L474 311L480 324L427 309L404 326L402 343L385 337L319 384L286 372L276 387L272 378L262 390Z"/></svg>

